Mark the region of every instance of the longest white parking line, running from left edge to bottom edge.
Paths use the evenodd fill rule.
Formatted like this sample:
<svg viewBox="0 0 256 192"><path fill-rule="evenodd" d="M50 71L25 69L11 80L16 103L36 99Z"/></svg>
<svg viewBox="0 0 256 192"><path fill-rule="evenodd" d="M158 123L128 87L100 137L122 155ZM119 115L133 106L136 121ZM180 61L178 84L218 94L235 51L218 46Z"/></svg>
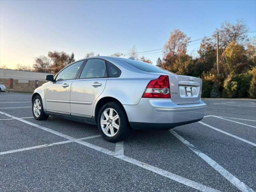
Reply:
<svg viewBox="0 0 256 192"><path fill-rule="evenodd" d="M138 160L129 158L129 157L124 156L124 155L122 155L122 154L121 154L121 155L116 155L116 152L113 152L113 151L110 151L110 150L108 150L108 149L105 149L105 148L96 146L96 145L94 145L94 144L90 144L90 143L85 142L85 141L82 141L82 140L76 140L76 138L73 138L73 137L71 137L71 136L62 134L62 133L60 133L60 132L51 130L51 129L49 129L49 128L40 126L40 125L38 125L38 124L34 124L34 123L32 123L32 122L26 121L26 120L24 120L24 119L21 119L21 118L15 117L15 116L12 116L12 115L7 114L7 113L4 113L4 112L2 112L2 111L0 111L0 114L6 115L6 116L11 117L11 118L15 118L15 119L17 119L17 120L19 120L19 121L21 121L21 122L24 122L24 123L26 123L26 124L32 125L32 126L37 127L37 128L40 128L40 129L45 130L45 131L47 131L47 132L50 132L50 133L52 133L52 134L56 134L56 135L58 135L58 136L61 136L61 137L63 137L63 138L66 138L66 139L68 139L68 140L72 140L72 141L74 141L74 142L76 142L76 143L79 143L79 144L82 144L82 145L87 146L87 147L89 147L89 148L92 148L92 149L94 149L94 150L100 151L100 152L102 152L102 153L104 153L104 154L108 154L108 155L110 155L110 156L114 156L114 157L116 157L116 158L118 158L118 159L121 159L121 160L124 160L124 161L126 161L126 162L135 164L135 165L140 166L140 167L142 167L142 168L144 168L144 169L146 169L146 170L150 170L150 171L152 171L152 172L154 172L154 173L157 173L157 174L159 174L159 175L161 175L161 176L170 178L170 179L172 179L172 180L174 180L174 181L177 181L177 182L179 182L179 183L181 183L181 184L184 184L184 185L186 185L186 186L190 186L190 187L192 187L192 188L194 188L194 189L197 189L197 190L200 190L200 191L203 191L203 192L219 192L219 190L215 190L215 189L210 188L210 187L208 187L208 186L204 186L204 185L202 185L202 184L200 184L200 183L197 183L197 182L194 182L194 181L192 181L192 180L186 179L186 178L184 178L184 177L178 176L178 175L176 175L176 174L167 172L167 171L162 170L162 169L160 169L160 168L157 168L157 167L148 165L148 164L143 163L143 162L140 162L140 161L138 161ZM120 150L120 148L121 148L120 146L121 146L121 145L122 145L122 144L119 143L118 151Z"/></svg>

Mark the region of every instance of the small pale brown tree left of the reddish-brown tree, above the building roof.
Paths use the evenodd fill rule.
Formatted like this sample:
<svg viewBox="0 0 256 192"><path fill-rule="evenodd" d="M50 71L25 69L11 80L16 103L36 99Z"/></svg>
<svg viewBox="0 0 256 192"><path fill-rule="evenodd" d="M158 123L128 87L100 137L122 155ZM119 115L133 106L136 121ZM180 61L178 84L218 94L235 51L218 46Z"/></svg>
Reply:
<svg viewBox="0 0 256 192"><path fill-rule="evenodd" d="M39 56L35 58L33 64L33 70L35 72L44 72L44 73L51 73L52 70L50 69L52 66L50 58L46 56Z"/></svg>

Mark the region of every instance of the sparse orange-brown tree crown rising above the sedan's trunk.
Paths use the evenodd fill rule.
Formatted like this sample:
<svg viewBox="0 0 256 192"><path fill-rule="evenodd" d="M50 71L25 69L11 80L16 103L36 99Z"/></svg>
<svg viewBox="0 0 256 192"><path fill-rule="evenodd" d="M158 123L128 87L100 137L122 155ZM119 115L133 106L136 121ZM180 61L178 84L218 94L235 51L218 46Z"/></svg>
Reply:
<svg viewBox="0 0 256 192"><path fill-rule="evenodd" d="M165 55L170 54L171 56L186 54L189 42L190 37L179 29L174 29L164 46L164 53Z"/></svg>

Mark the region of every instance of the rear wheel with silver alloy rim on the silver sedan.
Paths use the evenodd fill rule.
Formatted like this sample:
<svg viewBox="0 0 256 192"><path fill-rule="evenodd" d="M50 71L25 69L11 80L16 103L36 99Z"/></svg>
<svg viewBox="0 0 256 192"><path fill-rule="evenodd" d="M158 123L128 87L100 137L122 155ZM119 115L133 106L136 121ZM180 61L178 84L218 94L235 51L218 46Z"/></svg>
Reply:
<svg viewBox="0 0 256 192"><path fill-rule="evenodd" d="M97 123L100 134L109 142L124 140L130 133L128 118L118 102L102 106Z"/></svg>

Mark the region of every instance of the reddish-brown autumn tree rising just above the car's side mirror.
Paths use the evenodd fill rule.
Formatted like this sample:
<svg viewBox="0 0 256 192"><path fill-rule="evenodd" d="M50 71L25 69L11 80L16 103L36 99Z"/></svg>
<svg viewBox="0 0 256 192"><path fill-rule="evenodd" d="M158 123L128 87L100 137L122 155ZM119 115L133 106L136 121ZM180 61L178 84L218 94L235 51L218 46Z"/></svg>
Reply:
<svg viewBox="0 0 256 192"><path fill-rule="evenodd" d="M59 70L69 64L70 56L64 52L49 52L48 56L52 60L52 72L56 74Z"/></svg>

